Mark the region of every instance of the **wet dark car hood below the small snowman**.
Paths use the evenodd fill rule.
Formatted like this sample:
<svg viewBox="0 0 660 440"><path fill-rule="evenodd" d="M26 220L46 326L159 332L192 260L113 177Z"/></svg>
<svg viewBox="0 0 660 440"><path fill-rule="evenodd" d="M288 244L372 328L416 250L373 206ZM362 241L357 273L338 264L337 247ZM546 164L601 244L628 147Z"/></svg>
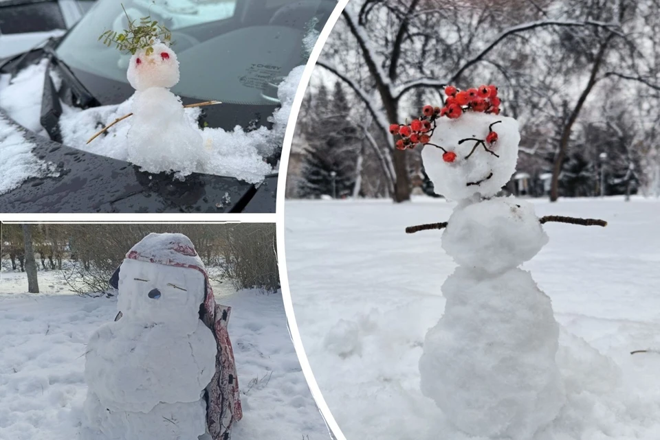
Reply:
<svg viewBox="0 0 660 440"><path fill-rule="evenodd" d="M1 110L0 117L11 121ZM58 176L28 178L0 196L0 212L274 212L275 174L261 185L207 174L177 181L171 175L141 172L137 165L63 146L27 130L21 135L34 144L36 157L56 166Z"/></svg>

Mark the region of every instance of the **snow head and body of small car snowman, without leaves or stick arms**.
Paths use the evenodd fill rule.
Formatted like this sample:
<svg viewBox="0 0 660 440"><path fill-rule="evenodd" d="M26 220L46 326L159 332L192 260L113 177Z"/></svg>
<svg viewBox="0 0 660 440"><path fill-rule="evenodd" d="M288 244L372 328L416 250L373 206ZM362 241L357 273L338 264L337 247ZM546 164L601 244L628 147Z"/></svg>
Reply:
<svg viewBox="0 0 660 440"><path fill-rule="evenodd" d="M206 161L200 130L186 117L181 99L169 90L179 82L174 51L163 43L153 45L149 55L140 49L131 56L127 77L136 91L127 159L148 172L169 168L185 176L199 169Z"/></svg>

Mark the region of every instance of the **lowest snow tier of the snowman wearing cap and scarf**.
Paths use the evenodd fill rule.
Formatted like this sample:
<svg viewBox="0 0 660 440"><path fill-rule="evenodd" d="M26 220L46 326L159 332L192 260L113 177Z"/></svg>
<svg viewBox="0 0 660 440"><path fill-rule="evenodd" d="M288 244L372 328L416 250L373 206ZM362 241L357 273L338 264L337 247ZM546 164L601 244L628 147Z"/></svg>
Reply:
<svg viewBox="0 0 660 440"><path fill-rule="evenodd" d="M148 413L115 412L105 408L94 393L87 395L83 439L185 439L206 432L206 402L157 404ZM130 423L129 423L130 420Z"/></svg>

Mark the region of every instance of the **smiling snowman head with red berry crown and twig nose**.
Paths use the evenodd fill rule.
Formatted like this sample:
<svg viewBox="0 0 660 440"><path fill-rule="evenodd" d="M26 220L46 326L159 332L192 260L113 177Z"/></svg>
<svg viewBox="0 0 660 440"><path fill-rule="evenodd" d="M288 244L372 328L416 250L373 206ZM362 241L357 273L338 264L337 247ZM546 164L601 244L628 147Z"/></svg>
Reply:
<svg viewBox="0 0 660 440"><path fill-rule="evenodd" d="M397 148L422 144L421 157L436 192L461 200L497 194L516 170L518 121L500 116L497 89L445 89L444 108L425 106L423 115L405 126L393 125Z"/></svg>

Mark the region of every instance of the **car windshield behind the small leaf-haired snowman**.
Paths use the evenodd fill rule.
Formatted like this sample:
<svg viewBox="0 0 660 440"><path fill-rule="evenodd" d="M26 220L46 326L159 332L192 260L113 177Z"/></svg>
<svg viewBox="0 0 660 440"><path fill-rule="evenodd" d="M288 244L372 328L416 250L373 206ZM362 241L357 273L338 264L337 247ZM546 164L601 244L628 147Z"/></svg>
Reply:
<svg viewBox="0 0 660 440"><path fill-rule="evenodd" d="M124 9L126 10L124 13ZM105 30L122 32L144 16L172 32L180 63L177 95L233 104L277 102L276 86L305 64L336 0L100 0L58 46L69 67L128 82L130 54L106 47ZM311 44L310 44L311 43Z"/></svg>

